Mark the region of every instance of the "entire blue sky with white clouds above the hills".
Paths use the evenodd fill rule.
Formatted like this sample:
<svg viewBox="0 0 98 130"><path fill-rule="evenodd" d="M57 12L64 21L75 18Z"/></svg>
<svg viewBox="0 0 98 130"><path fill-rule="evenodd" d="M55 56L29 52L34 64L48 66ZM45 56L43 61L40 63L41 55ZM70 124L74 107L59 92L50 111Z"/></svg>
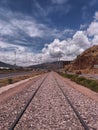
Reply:
<svg viewBox="0 0 98 130"><path fill-rule="evenodd" d="M98 0L0 0L0 61L72 60L98 45Z"/></svg>

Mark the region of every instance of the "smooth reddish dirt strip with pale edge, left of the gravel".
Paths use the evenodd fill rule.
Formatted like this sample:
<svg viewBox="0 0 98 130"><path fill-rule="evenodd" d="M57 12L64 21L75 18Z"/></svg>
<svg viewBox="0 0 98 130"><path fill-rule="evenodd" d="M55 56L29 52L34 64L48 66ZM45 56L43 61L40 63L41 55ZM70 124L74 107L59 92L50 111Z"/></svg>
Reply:
<svg viewBox="0 0 98 130"><path fill-rule="evenodd" d="M36 79L38 79L39 76L35 76L32 78L25 79L25 80L19 81L17 83L11 84L11 85L1 87L0 88L0 102L4 102L5 100L8 100L8 98L19 93L20 91L25 89L27 86L30 86L30 84L34 83L36 81ZM33 80L33 82L32 82L32 80Z"/></svg>

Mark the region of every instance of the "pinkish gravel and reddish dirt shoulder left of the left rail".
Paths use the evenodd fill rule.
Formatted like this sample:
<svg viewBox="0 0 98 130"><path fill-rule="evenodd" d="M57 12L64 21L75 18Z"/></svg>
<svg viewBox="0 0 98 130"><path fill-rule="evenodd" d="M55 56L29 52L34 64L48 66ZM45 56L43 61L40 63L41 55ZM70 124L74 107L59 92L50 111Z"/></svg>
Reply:
<svg viewBox="0 0 98 130"><path fill-rule="evenodd" d="M36 77L0 95L0 130L8 130L45 75ZM37 82L36 82L37 81ZM0 97L0 99L1 99Z"/></svg>

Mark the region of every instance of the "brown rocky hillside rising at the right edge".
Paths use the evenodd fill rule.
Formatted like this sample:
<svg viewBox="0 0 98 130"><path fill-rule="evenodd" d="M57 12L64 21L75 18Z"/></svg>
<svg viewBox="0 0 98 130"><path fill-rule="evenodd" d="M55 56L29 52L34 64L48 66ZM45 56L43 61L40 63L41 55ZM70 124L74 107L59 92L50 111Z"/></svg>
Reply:
<svg viewBox="0 0 98 130"><path fill-rule="evenodd" d="M96 65L98 65L98 45L95 45L85 50L81 55L78 55L72 64L68 66L68 69L93 69Z"/></svg>

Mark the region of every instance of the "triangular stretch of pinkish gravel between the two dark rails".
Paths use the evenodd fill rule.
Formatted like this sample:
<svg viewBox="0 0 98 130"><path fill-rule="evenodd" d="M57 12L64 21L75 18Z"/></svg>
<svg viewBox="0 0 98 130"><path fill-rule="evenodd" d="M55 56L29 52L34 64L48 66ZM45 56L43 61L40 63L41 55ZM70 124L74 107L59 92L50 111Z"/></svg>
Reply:
<svg viewBox="0 0 98 130"><path fill-rule="evenodd" d="M41 86L15 130L84 130L52 73Z"/></svg>

